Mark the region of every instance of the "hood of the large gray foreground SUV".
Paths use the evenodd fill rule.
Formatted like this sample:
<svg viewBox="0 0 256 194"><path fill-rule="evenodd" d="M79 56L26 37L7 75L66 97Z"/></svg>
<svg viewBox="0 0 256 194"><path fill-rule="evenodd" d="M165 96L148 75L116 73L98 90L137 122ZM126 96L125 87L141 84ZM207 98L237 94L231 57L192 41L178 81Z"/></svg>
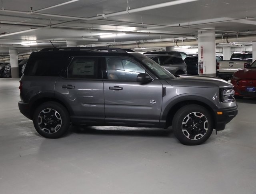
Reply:
<svg viewBox="0 0 256 194"><path fill-rule="evenodd" d="M182 75L173 80L166 80L172 86L201 87L201 88L230 88L229 82L209 76Z"/></svg>

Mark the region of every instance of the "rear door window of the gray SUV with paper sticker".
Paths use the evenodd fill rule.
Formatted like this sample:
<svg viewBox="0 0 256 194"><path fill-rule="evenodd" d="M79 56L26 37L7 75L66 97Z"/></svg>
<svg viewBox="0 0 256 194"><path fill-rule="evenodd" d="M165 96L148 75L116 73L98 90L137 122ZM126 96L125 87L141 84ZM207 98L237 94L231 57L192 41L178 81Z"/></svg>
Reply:
<svg viewBox="0 0 256 194"><path fill-rule="evenodd" d="M100 79L99 58L75 57L68 66L68 78Z"/></svg>

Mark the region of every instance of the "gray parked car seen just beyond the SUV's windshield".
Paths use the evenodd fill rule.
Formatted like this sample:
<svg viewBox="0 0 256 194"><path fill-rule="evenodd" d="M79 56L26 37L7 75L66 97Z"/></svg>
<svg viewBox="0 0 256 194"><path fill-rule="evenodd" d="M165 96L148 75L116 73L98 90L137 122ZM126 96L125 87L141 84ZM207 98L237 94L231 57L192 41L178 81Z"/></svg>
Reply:
<svg viewBox="0 0 256 194"><path fill-rule="evenodd" d="M145 54L145 56L151 58L174 75L187 74L187 65L181 57L169 54Z"/></svg>

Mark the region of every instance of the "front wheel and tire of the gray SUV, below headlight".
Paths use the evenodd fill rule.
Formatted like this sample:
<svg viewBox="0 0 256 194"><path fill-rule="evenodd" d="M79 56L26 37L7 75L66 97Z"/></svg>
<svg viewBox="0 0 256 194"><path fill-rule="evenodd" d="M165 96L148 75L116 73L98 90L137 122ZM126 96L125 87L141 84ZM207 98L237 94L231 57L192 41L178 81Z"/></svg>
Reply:
<svg viewBox="0 0 256 194"><path fill-rule="evenodd" d="M206 108L190 104L176 112L172 128L174 135L182 144L199 145L211 136L213 120Z"/></svg>

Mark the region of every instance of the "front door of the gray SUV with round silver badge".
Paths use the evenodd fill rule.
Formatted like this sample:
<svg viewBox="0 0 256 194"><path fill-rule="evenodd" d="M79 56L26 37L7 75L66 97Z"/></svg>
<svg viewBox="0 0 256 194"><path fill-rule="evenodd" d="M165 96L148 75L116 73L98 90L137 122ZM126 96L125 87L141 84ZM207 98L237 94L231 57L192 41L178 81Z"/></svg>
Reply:
<svg viewBox="0 0 256 194"><path fill-rule="evenodd" d="M114 79L110 79L110 72ZM104 99L106 124L128 126L159 126L162 108L162 84L153 80L147 84L137 82L144 68L131 58L106 58Z"/></svg>

